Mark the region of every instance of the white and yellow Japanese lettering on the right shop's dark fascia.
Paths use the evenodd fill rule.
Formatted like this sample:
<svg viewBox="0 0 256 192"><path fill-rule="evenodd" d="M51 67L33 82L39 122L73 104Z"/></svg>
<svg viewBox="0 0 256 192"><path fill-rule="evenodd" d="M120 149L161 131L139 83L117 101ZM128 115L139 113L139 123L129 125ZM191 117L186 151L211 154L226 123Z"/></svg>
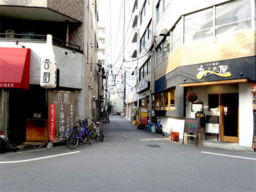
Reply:
<svg viewBox="0 0 256 192"><path fill-rule="evenodd" d="M229 72L229 67L227 65L219 65L219 63L210 63L206 64L205 67L201 65L198 68L198 74L196 75L196 77L200 80L212 74L223 78L228 78L231 76L231 73Z"/></svg>

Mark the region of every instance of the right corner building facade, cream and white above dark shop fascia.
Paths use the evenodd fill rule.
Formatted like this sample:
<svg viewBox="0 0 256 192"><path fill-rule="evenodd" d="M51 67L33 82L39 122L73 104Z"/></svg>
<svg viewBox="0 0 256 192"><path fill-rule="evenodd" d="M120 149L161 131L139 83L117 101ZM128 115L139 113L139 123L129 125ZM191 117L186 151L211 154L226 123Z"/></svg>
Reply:
<svg viewBox="0 0 256 192"><path fill-rule="evenodd" d="M140 59L137 92L152 96L164 131L182 140L185 118L201 116L203 139L251 146L255 0L142 1L139 9L138 57L153 53Z"/></svg>

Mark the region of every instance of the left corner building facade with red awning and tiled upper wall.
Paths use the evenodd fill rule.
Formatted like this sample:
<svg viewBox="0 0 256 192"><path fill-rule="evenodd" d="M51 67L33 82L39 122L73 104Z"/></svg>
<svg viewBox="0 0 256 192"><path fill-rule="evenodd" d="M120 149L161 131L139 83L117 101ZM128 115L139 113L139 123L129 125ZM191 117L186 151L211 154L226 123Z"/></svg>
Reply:
<svg viewBox="0 0 256 192"><path fill-rule="evenodd" d="M97 1L0 1L0 6L1 129L11 142L61 142L78 119L96 117L100 110ZM42 78L42 69L52 65L46 59L48 37L57 69ZM42 86L52 76L54 86Z"/></svg>

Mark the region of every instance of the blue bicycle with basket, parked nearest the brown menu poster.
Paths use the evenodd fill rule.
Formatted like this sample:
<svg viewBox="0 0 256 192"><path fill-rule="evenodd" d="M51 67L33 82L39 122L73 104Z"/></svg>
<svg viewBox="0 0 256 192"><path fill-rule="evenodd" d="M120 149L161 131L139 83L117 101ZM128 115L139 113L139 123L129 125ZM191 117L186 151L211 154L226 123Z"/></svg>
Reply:
<svg viewBox="0 0 256 192"><path fill-rule="evenodd" d="M84 118L84 120L79 120L78 122L80 127L82 127L80 133L78 131L78 126L76 126L67 130L65 135L67 146L71 149L76 148L79 142L85 143L87 140L91 145L91 138L89 137L89 131L87 130L87 126L88 126L87 118Z"/></svg>

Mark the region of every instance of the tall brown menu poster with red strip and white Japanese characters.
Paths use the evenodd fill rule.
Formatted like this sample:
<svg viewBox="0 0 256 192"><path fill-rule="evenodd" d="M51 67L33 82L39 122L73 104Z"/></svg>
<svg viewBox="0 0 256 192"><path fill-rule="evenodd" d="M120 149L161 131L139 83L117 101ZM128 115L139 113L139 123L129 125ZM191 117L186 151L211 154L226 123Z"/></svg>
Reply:
<svg viewBox="0 0 256 192"><path fill-rule="evenodd" d="M49 138L52 142L65 140L65 133L76 125L76 91L48 91Z"/></svg>

